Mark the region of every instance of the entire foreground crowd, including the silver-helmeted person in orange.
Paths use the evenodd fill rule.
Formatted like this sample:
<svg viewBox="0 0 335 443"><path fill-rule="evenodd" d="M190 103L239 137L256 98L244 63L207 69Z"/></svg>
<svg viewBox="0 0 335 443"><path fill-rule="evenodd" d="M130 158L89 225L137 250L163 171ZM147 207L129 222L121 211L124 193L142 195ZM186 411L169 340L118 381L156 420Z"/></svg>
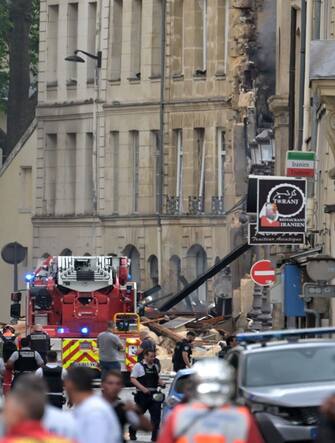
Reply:
<svg viewBox="0 0 335 443"><path fill-rule="evenodd" d="M147 332L141 332L138 362L130 374L134 402L125 402L121 399L124 381L118 361L123 345L114 334L112 323L97 340L101 392L94 389L90 368L62 368L40 326L21 339L20 349L6 346L9 342L15 344L14 332L8 329L0 335L0 373L5 376L11 370L14 377L10 391L0 403L0 443L122 443L126 431L130 440L136 440L137 430L151 431L151 440L158 443L264 443L249 410L233 404L233 368L222 358L202 360L192 366L193 332L176 344L172 357L175 371L193 368L185 385L184 400L161 427L162 398L157 394L164 382L160 378L156 344ZM225 347L236 344L234 337L226 342ZM65 398L69 407L63 409ZM145 416L147 411L150 420ZM334 411L335 397L322 408L319 443L334 439Z"/></svg>

